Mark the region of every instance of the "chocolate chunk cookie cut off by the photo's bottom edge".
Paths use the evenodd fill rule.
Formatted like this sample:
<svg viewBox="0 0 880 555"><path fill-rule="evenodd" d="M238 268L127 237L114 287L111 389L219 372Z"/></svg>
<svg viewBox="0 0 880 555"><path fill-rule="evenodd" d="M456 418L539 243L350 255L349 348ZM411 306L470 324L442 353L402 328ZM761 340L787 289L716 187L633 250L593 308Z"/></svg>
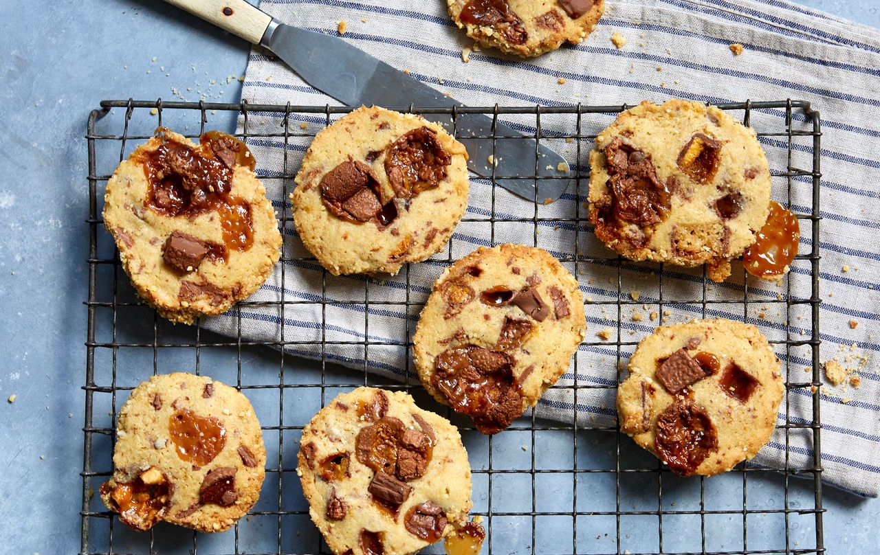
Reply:
<svg viewBox="0 0 880 555"><path fill-rule="evenodd" d="M415 553L466 526L458 430L402 391L343 393L304 428L297 474L334 553Z"/></svg>

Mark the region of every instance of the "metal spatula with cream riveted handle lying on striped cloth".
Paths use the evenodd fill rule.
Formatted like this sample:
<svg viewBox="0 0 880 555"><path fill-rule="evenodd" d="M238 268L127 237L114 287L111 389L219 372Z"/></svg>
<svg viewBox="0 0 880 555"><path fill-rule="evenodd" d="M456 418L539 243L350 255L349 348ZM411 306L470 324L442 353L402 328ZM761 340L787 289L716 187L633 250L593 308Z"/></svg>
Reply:
<svg viewBox="0 0 880 555"><path fill-rule="evenodd" d="M339 37L287 26L245 0L166 0L275 53L312 87L346 106L464 107ZM466 146L467 166L524 199L556 201L568 164L554 150L480 113L429 115Z"/></svg>

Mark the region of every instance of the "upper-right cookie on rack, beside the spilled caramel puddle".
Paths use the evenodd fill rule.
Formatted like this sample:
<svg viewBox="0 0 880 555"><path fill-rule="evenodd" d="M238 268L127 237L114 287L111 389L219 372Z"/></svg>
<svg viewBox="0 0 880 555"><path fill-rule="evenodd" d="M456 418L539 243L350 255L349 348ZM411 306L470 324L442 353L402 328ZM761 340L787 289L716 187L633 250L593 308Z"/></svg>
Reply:
<svg viewBox="0 0 880 555"><path fill-rule="evenodd" d="M705 263L714 281L769 213L754 130L715 106L642 102L598 135L590 168L590 222L605 245L633 260Z"/></svg>

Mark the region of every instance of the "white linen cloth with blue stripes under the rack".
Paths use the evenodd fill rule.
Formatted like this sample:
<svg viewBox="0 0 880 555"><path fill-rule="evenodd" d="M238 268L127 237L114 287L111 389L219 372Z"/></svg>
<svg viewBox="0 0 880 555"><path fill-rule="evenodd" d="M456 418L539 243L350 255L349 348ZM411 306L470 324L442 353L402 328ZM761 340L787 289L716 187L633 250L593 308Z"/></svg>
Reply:
<svg viewBox="0 0 880 555"><path fill-rule="evenodd" d="M341 20L348 23L344 40L400 69L408 69L437 89L471 106L546 106L635 104L642 99L662 102L671 97L721 103L745 99L804 99L822 113L823 180L821 187L822 222L818 237L821 251L821 358L837 357L845 366L859 366L856 357L866 355L869 362L858 368L861 387L847 385L820 390L822 412L822 463L826 482L862 495L880 492L880 374L872 363L880 351L876 288L880 269L880 33L869 27L810 11L781 0L608 0L605 17L595 33L576 47L560 50L532 60L519 60L495 52L480 51L461 59L462 49L472 47L450 21L441 1L413 4L405 0L273 0L261 8L286 23L326 33L336 33ZM622 48L609 40L613 32L627 39ZM728 46L741 43L743 55L734 56ZM564 80L564 81L563 81ZM243 91L243 98L254 103L314 105L336 104L304 84L282 63L255 48ZM742 117L743 113L734 113ZM785 131L784 110L752 113L752 126L759 131ZM582 133L595 135L611 123L613 114L583 117ZM248 122L252 133L260 127L274 131L282 114L252 114ZM303 116L309 133L321 128L323 116ZM523 129L533 128L534 117L510 118ZM240 122L239 122L240 123ZM573 133L576 120L571 116L545 116L546 131ZM291 124L291 131L298 131ZM803 113L795 112L793 131L810 131ZM240 125L239 125L240 130ZM308 137L293 137L285 151L282 140L253 137L249 145L259 161L258 171L268 178L282 170L296 172ZM771 168L784 172L788 167L810 170L812 139L795 136L789 159L786 136L762 137ZM579 146L579 148L578 148ZM590 141L563 142L557 149L568 157L572 167L586 172ZM286 168L285 168L285 165ZM265 179L277 208L285 202L282 179ZM578 205L585 196L569 187L560 201L540 206L541 218L583 217ZM292 186L292 184L290 184ZM774 178L774 198L788 202L800 213L811 206L810 178ZM509 223L505 219L531 218L535 207L504 191L495 193L494 235L488 223L493 207L488 183L473 179L469 221L458 226L451 242L451 257L458 259L478 245L502 242L537 244L558 256L575 252L576 230L571 224ZM290 212L287 212L290 214ZM286 255L306 256L302 244L289 225L286 229ZM606 255L590 230L577 234L579 253ZM809 225L802 224L801 252L810 252L813 241ZM448 253L444 253L444 258ZM844 268L848 268L847 271ZM306 357L326 356L328 361L357 369L368 369L386 376L407 379L412 371L407 349L400 345L414 332L418 303L428 296L431 284L443 263L414 264L385 281L371 281L365 298L360 276L327 277L322 283L316 263L292 261L260 289L254 300L279 300L287 305L282 326L275 310L247 306L207 324L218 332L235 334L240 316L242 335L249 340L293 341L289 350ZM575 268L572 267L572 270ZM616 338L603 344L595 333L617 327L619 315L613 304L617 298L617 270L612 265L579 264L578 279L587 305L590 343L577 354L576 366L562 376L559 387L548 391L537 413L541 417L570 421L577 415L583 427L614 426L614 389L617 382ZM631 308L620 313L620 340L634 342L657 325L648 315L658 310L660 298L656 266L634 264L621 275L623 294L641 293L635 311L642 321L632 319ZM410 288L407 288L407 274ZM738 275L738 278L737 278ZM743 319L759 325L772 341L808 340L809 304L796 304L787 312L785 299L809 298L809 261L798 261L782 287L750 281L749 300L742 303L714 303L742 298L742 271L722 285L710 284L707 303L677 303L702 295L700 271L667 268L663 274L664 304L660 314L664 323L689 318L723 317ZM319 302L326 298L326 307ZM407 314L402 304L416 303ZM668 310L668 314L664 311ZM850 321L858 322L856 328ZM321 323L326 322L325 326ZM326 347L310 341L326 340ZM304 344L297 344L303 341ZM345 344L334 344L333 342ZM369 342L364 352L364 342ZM383 345L396 342L398 345ZM804 369L811 366L810 348L775 345L788 381L810 382ZM634 347L621 348L626 361ZM366 359L366 362L364 362ZM412 380L412 376L408 379ZM573 384L591 385L578 389ZM569 386L568 389L565 386ZM595 387L605 386L605 387ZM793 389L780 407L779 423L809 424L812 420L812 393L809 387ZM805 468L813 452L809 429L777 429L770 444L762 449L755 464L773 468Z"/></svg>

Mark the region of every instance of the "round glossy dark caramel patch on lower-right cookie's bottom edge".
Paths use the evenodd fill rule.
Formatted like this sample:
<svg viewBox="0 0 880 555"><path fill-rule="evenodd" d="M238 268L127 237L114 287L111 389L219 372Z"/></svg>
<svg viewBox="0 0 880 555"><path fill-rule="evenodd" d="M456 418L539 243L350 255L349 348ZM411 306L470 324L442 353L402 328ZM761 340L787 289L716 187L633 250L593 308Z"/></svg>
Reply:
<svg viewBox="0 0 880 555"><path fill-rule="evenodd" d="M654 445L671 471L690 476L718 449L718 435L705 408L689 398L677 397L657 418Z"/></svg>

